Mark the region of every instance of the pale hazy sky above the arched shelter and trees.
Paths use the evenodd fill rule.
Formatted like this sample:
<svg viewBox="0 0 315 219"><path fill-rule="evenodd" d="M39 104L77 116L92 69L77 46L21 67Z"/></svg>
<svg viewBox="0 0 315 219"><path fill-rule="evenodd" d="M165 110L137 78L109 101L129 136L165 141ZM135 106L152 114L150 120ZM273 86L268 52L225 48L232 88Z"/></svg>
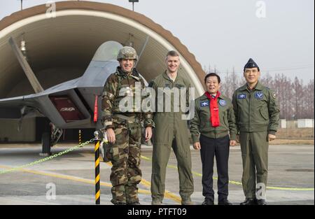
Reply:
<svg viewBox="0 0 315 219"><path fill-rule="evenodd" d="M132 9L128 0L100 2ZM24 8L43 3L23 1ZM134 9L171 31L202 66L241 73L252 57L262 73L314 79L314 0L139 0ZM0 20L17 10L20 0L1 0Z"/></svg>

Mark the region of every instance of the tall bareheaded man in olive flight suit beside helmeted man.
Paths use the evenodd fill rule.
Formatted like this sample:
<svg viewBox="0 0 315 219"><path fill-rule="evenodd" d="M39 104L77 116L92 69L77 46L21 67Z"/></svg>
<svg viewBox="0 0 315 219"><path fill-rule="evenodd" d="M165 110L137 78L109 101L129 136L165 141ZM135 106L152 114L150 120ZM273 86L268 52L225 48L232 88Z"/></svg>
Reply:
<svg viewBox="0 0 315 219"><path fill-rule="evenodd" d="M173 148L178 162L179 170L179 194L181 195L181 204L193 204L190 195L193 194L193 174L191 171L190 141L187 120L183 119L183 111L176 112L175 95L164 94L164 97L158 98L158 90L173 89L180 91L186 88L185 105L188 103L188 88L190 82L178 73L180 59L179 54L175 51L167 53L165 59L167 71L155 78L149 87L155 90L155 129L153 130L153 158L152 158L152 176L151 176L151 193L152 204L160 205L165 193L165 176L167 162L171 149ZM171 96L167 102L167 96ZM181 98L183 96L181 95ZM164 101L165 99L165 101ZM178 101L178 100L177 100ZM182 103L181 103L182 104ZM168 110L167 105L170 106ZM160 107L162 106L162 107Z"/></svg>

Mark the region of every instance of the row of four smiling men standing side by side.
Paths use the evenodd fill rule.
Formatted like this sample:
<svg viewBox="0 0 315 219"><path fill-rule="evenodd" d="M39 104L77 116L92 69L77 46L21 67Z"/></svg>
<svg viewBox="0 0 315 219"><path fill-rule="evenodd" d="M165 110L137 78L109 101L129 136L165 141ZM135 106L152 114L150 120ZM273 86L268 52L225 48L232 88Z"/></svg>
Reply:
<svg viewBox="0 0 315 219"><path fill-rule="evenodd" d="M193 204L194 183L191 171L189 131L193 147L200 150L202 158L202 186L204 205L214 204L213 167L214 155L218 168L218 204L229 205L228 201L228 157L230 146L241 143L243 160L242 184L245 202L241 204L265 204L265 199L256 199L257 183L267 185L268 141L275 139L279 123L279 107L276 95L268 87L258 82L260 70L252 59L244 67L246 85L235 91L233 100L219 92L221 79L216 73L204 78L206 92L195 99L195 112L188 127L182 110L176 111L176 96L169 97L170 108L151 108L142 111L133 108L123 112L121 101L126 96L134 96L136 84L144 88L144 80L134 68L137 52L125 46L118 53L118 66L104 85L102 97L102 122L110 142L106 156L112 162L111 183L113 204L140 204L137 185L141 181L141 121L145 127L146 141L153 135L153 157L151 176L152 204L162 204L165 193L165 176L171 150L178 162L179 194L181 204ZM167 70L149 83L155 91L154 106L160 106L160 88L183 89L192 87L190 81L179 74L180 59L175 51L167 53ZM181 98L182 92L179 92ZM164 103L167 94L163 94ZM186 92L186 105L189 103ZM141 96L144 99L144 96ZM182 108L181 108L182 109Z"/></svg>

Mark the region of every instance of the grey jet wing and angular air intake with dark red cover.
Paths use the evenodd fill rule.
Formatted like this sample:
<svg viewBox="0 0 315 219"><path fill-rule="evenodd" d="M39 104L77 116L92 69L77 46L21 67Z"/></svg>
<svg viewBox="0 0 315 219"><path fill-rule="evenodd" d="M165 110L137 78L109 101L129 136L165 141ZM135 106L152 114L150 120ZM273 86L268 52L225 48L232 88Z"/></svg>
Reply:
<svg viewBox="0 0 315 219"><path fill-rule="evenodd" d="M0 99L0 118L45 116L60 128L81 125L90 127L91 113L76 87L79 79L67 81L37 94Z"/></svg>

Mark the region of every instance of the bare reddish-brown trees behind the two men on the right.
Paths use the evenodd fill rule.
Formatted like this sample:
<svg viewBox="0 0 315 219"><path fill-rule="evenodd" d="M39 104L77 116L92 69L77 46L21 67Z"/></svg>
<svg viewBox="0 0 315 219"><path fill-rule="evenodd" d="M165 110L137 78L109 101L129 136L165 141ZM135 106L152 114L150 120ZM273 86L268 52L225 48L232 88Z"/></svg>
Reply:
<svg viewBox="0 0 315 219"><path fill-rule="evenodd" d="M221 77L221 92L232 99L234 91L246 83L242 73L220 72L204 68L206 73L215 72ZM276 92L280 107L280 118L286 120L314 119L314 79L303 83L295 76L294 80L283 73L272 77L268 72L260 74L260 82Z"/></svg>

